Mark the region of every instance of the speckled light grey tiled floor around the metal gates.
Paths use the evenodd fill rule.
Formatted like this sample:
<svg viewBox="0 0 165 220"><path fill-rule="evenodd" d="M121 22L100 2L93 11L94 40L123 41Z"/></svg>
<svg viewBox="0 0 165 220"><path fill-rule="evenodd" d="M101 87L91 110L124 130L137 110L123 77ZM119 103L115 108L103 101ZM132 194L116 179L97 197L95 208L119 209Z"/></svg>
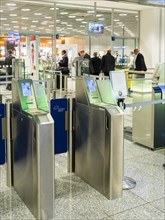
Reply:
<svg viewBox="0 0 165 220"><path fill-rule="evenodd" d="M107 200L75 174L67 173L67 155L55 156L54 219L165 219L165 149L151 151L125 140L125 175L137 186L123 197ZM6 186L6 167L0 167L0 220L34 217L14 189Z"/></svg>

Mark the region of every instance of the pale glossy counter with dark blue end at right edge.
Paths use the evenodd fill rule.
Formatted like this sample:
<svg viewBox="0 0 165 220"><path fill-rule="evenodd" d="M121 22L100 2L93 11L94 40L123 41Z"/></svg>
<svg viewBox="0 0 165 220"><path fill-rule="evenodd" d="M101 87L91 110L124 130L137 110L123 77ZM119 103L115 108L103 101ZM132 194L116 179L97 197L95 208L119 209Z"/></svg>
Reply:
<svg viewBox="0 0 165 220"><path fill-rule="evenodd" d="M143 106L146 101L161 100L159 88L145 87L141 83L137 89L133 90L133 102L141 102L139 108L134 108L132 123L132 138L134 142L140 143L152 149L165 146L165 105L148 104ZM145 91L145 90L148 91Z"/></svg>

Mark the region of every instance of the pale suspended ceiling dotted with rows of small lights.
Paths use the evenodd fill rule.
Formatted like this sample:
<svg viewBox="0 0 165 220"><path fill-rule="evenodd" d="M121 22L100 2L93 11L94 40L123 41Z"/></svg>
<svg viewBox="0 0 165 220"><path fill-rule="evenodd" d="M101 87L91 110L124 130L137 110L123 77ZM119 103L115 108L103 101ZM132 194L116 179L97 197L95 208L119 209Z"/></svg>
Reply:
<svg viewBox="0 0 165 220"><path fill-rule="evenodd" d="M117 7L116 1L96 1L96 5L90 0L54 2L56 1L0 0L1 34L19 32L36 35L88 35L88 23L96 21L105 25L105 35L111 35L112 8L115 8L114 34L127 37L138 35L139 7L135 4L118 3Z"/></svg>

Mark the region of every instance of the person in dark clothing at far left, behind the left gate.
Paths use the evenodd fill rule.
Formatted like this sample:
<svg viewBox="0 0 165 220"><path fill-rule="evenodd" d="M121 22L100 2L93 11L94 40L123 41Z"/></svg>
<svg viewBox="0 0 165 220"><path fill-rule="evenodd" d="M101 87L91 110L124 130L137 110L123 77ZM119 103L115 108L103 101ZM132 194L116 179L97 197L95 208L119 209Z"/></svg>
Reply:
<svg viewBox="0 0 165 220"><path fill-rule="evenodd" d="M7 67L7 74L8 75L12 75L12 60L15 57L12 55L13 54L12 50L9 50L8 53L9 53L9 55L5 58L5 65ZM8 80L11 80L11 79L12 78L8 78ZM12 89L11 83L7 84L6 89L7 90L11 90Z"/></svg>

